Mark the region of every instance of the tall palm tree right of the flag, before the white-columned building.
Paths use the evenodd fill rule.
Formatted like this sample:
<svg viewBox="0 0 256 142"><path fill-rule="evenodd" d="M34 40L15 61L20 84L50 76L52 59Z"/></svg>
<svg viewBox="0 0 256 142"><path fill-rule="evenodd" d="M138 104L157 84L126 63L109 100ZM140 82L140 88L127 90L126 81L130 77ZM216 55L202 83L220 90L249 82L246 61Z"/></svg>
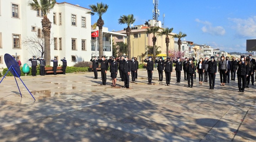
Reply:
<svg viewBox="0 0 256 142"><path fill-rule="evenodd" d="M127 34L127 44L128 44L128 59L131 59L131 46L130 46L130 34L132 30L130 28L130 24L135 22L135 18L133 18L133 14L120 16L118 19L118 24L127 24L126 34Z"/></svg>

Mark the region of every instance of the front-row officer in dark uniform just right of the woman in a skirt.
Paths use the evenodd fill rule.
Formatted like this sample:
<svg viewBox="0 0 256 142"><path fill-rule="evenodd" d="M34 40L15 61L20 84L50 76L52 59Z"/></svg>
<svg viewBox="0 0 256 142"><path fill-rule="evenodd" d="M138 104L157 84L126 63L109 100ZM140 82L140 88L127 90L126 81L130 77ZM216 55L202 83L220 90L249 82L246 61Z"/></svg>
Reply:
<svg viewBox="0 0 256 142"><path fill-rule="evenodd" d="M128 61L128 56L124 56L123 61L123 79L124 79L124 86L122 88L129 88L129 79L130 79L130 71L132 68L132 64Z"/></svg>

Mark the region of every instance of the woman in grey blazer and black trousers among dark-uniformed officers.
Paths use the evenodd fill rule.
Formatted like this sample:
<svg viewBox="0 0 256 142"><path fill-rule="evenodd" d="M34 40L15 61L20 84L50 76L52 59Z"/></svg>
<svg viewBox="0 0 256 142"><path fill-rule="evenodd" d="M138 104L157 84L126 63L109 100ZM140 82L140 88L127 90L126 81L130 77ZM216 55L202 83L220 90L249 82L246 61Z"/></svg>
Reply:
<svg viewBox="0 0 256 142"><path fill-rule="evenodd" d="M226 72L228 72L228 64L225 60L225 56L221 56L219 61L218 72L220 73L220 86L225 86L226 83Z"/></svg>

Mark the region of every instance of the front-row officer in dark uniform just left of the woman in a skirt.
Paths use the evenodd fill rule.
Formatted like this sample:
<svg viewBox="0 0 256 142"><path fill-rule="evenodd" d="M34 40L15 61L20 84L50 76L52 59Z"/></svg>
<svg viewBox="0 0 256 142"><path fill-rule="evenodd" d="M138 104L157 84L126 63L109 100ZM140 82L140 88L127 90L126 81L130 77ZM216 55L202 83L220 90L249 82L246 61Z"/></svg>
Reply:
<svg viewBox="0 0 256 142"><path fill-rule="evenodd" d="M106 56L101 56L101 58L98 59L98 62L101 63L101 78L102 78L102 84L101 85L106 85L107 70L108 70L108 61L106 60Z"/></svg>

